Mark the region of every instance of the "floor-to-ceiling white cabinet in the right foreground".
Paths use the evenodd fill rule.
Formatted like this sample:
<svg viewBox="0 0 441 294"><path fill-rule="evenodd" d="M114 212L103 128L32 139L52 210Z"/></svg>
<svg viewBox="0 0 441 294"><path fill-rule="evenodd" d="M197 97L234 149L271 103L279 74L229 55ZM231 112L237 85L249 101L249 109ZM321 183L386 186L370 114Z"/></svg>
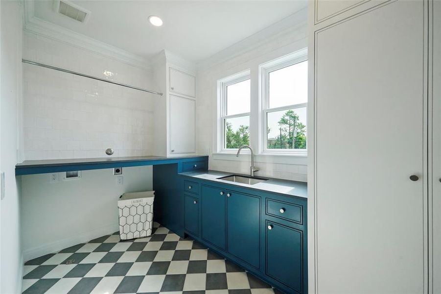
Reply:
<svg viewBox="0 0 441 294"><path fill-rule="evenodd" d="M440 283L428 257L429 4L311 2L310 293L417 294Z"/></svg>

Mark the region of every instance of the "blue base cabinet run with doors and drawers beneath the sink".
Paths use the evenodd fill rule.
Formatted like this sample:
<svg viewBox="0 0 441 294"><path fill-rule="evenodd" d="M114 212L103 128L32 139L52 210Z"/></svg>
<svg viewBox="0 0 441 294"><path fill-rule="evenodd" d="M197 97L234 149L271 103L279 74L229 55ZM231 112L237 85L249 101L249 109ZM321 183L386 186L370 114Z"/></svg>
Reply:
<svg viewBox="0 0 441 294"><path fill-rule="evenodd" d="M182 177L187 235L284 293L308 293L306 198Z"/></svg>

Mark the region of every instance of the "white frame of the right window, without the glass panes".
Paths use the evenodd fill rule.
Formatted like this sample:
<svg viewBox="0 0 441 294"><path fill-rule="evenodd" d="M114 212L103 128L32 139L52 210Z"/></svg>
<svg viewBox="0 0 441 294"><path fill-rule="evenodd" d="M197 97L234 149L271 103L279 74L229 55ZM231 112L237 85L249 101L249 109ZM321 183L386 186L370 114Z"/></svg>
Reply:
<svg viewBox="0 0 441 294"><path fill-rule="evenodd" d="M260 154L272 154L272 155L296 155L296 156L307 156L307 146L306 149L269 149L268 148L268 132L267 132L267 116L268 113L303 108L306 107L307 102L297 103L286 106L269 108L269 74L271 72L283 69L288 66L292 66L308 60L307 49L302 49L292 54L282 56L273 61L261 64L259 66L259 93L260 93L260 116L259 116L259 149Z"/></svg>

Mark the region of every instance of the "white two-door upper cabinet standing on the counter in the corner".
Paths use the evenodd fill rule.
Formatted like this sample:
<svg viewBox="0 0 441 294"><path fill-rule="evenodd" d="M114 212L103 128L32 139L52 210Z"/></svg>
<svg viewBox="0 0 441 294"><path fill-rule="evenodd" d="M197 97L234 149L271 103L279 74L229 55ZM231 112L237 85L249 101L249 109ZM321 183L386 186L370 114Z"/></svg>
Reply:
<svg viewBox="0 0 441 294"><path fill-rule="evenodd" d="M196 78L192 63L163 50L154 60L156 81L164 93L155 103L155 155L196 152Z"/></svg>

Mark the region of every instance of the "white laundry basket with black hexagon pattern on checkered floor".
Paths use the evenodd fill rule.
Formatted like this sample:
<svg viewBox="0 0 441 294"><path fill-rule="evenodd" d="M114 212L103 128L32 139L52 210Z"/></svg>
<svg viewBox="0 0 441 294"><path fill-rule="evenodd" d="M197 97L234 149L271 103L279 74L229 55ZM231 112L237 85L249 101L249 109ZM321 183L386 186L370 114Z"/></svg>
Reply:
<svg viewBox="0 0 441 294"><path fill-rule="evenodd" d="M124 193L118 200L121 240L152 235L155 191Z"/></svg>

